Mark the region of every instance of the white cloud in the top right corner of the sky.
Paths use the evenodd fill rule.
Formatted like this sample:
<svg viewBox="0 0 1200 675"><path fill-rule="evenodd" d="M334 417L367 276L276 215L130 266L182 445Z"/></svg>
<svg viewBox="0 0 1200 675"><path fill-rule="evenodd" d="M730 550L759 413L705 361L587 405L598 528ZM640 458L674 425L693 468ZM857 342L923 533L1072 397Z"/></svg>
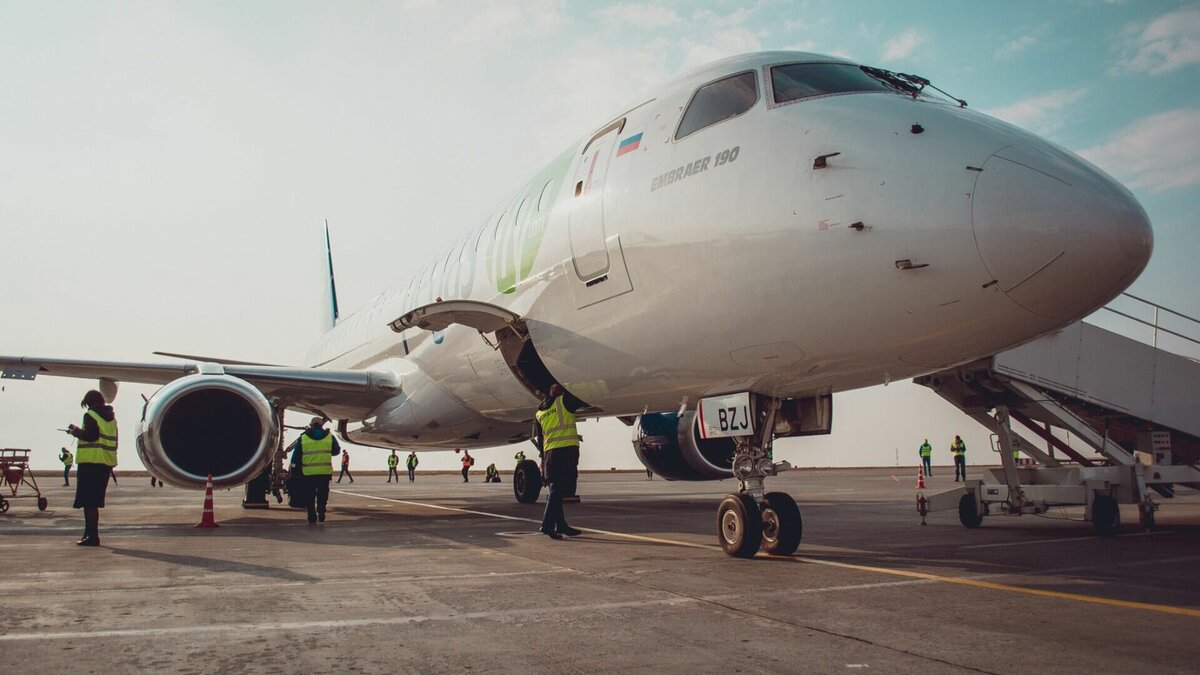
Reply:
<svg viewBox="0 0 1200 675"><path fill-rule="evenodd" d="M1200 6L1168 12L1122 31L1114 73L1166 74L1200 62Z"/></svg>

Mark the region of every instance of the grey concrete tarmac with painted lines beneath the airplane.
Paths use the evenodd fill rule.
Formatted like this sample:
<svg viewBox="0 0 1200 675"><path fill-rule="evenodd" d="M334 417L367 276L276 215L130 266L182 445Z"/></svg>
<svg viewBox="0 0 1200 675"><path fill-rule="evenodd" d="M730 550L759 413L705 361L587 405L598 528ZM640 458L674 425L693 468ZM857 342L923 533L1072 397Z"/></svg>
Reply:
<svg viewBox="0 0 1200 675"><path fill-rule="evenodd" d="M791 557L716 544L732 482L581 476L584 534L534 533L510 476L334 484L329 520L121 474L98 549L73 488L0 514L11 673L1195 673L1200 492L1115 538L1079 509L920 525L916 468L793 471ZM948 472L926 494L952 488ZM47 484L54 486L46 488ZM545 498L545 495L542 496Z"/></svg>

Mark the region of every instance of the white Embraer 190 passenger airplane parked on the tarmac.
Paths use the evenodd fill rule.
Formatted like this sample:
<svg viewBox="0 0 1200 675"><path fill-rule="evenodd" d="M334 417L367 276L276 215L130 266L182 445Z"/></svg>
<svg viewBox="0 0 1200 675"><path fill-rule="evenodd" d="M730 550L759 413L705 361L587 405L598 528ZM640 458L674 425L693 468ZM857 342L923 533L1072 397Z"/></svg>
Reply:
<svg viewBox="0 0 1200 675"><path fill-rule="evenodd" d="M935 90L937 94L935 94ZM337 318L302 366L0 357L163 387L142 461L167 483L262 474L283 410L384 448L529 438L552 383L618 417L678 480L734 478L718 539L793 554L775 438L832 431L836 392L911 378L1103 306L1153 245L1130 192L928 79L802 52L692 70L601 120L407 285ZM326 228L328 246L328 228ZM203 430L203 434L199 432ZM587 441L583 442L587 452ZM538 498L536 462L517 467Z"/></svg>

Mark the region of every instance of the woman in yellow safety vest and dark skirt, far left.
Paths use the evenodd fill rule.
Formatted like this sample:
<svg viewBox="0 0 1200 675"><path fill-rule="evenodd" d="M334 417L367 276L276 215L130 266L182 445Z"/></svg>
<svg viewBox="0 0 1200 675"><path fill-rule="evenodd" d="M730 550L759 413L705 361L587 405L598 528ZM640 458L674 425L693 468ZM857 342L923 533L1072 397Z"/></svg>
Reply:
<svg viewBox="0 0 1200 675"><path fill-rule="evenodd" d="M83 395L79 405L88 408L83 416L83 429L74 424L67 434L78 438L76 458L74 508L83 509L84 526L80 546L100 545L100 509L104 508L108 478L116 466L116 413L104 401L104 395L91 389Z"/></svg>

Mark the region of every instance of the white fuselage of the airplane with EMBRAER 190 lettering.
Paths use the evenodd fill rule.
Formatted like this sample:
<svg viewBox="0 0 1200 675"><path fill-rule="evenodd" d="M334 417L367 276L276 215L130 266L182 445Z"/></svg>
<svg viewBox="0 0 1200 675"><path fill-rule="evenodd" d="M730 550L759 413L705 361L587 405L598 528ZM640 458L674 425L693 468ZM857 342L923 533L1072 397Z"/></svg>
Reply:
<svg viewBox="0 0 1200 675"><path fill-rule="evenodd" d="M805 60L839 61L755 54L666 85L334 328L308 365L392 368L404 382L356 440L486 446L532 417L536 399L475 330L389 328L437 298L520 315L568 390L602 414L637 414L990 356L1086 316L1145 267L1145 214L1091 165L925 96L775 104L772 66ZM698 86L744 71L750 109L674 137Z"/></svg>

